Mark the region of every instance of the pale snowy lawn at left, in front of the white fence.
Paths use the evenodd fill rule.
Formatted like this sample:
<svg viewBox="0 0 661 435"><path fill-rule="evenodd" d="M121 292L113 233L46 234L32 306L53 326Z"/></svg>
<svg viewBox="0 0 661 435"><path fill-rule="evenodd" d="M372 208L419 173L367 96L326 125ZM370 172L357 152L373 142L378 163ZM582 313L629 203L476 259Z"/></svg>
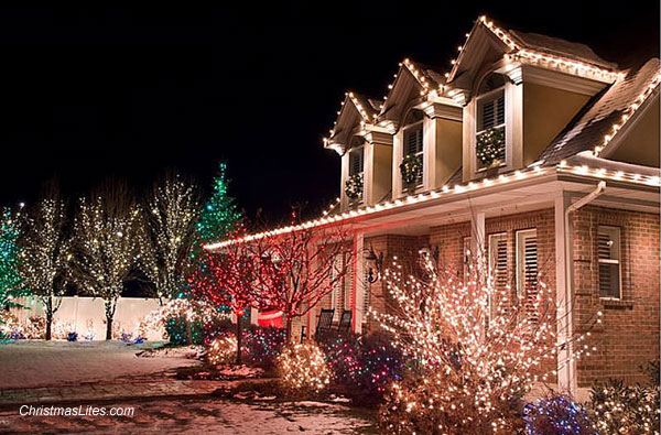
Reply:
<svg viewBox="0 0 661 435"><path fill-rule="evenodd" d="M148 346L119 341L0 344L0 390L108 382L199 363L183 357L136 357L136 352Z"/></svg>

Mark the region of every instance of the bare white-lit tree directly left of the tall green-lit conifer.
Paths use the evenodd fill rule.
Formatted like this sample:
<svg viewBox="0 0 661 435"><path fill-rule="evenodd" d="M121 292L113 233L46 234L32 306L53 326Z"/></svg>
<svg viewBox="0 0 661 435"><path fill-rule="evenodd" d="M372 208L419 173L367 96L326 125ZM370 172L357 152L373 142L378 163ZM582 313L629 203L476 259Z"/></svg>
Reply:
<svg viewBox="0 0 661 435"><path fill-rule="evenodd" d="M148 199L140 265L161 304L164 297L177 296L185 285L184 273L195 262L192 251L201 204L197 186L175 173L154 185Z"/></svg>

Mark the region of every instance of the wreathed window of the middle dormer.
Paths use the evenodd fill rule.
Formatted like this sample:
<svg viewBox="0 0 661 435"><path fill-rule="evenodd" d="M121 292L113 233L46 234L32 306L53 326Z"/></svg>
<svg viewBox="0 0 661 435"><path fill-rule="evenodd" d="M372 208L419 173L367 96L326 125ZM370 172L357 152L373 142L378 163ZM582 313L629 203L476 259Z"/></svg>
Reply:
<svg viewBox="0 0 661 435"><path fill-rule="evenodd" d="M414 191L423 184L423 113L420 110L413 110L407 120L409 123L403 128L403 155L400 172L402 189Z"/></svg>

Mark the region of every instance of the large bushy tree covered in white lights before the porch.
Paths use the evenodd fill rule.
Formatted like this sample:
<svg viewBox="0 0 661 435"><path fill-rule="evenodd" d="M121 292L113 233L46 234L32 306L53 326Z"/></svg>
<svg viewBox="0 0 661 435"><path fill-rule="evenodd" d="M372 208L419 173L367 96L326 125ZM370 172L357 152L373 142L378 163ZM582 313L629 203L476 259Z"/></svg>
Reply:
<svg viewBox="0 0 661 435"><path fill-rule="evenodd" d="M513 433L521 396L568 362L559 360L553 292L541 280L525 296L498 289L480 264L469 267L464 282L440 272L429 254L423 273L407 273L397 262L383 273L395 313L369 314L422 374L392 385L382 429ZM571 337L576 349L586 336ZM584 345L573 358L590 350Z"/></svg>

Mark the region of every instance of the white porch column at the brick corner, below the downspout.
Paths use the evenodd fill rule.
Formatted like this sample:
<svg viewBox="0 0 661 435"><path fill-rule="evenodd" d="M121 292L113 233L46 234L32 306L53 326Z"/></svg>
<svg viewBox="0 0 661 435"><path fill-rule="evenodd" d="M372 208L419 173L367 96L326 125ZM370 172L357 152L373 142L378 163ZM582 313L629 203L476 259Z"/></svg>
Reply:
<svg viewBox="0 0 661 435"><path fill-rule="evenodd" d="M561 192L555 198L555 297L557 323L557 387L561 391L576 393L576 360L573 357L574 333L574 258L573 224L566 209L571 198Z"/></svg>

